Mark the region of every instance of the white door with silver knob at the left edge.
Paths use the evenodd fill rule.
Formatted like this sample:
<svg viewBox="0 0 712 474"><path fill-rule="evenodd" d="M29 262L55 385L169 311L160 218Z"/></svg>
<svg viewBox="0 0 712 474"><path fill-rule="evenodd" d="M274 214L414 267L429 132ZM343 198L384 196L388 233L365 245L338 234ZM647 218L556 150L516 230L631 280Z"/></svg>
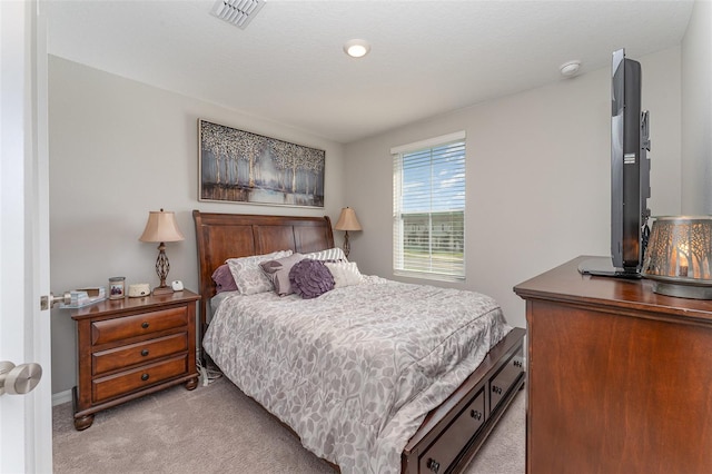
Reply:
<svg viewBox="0 0 712 474"><path fill-rule="evenodd" d="M38 363L0 395L0 473L51 473L47 27L40 0L0 0L0 361Z"/></svg>

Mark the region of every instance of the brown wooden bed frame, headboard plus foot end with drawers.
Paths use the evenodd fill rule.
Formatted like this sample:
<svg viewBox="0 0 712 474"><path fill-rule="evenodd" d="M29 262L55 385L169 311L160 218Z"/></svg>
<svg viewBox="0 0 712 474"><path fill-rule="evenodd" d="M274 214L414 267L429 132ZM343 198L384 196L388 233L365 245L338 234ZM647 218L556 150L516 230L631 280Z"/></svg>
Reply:
<svg viewBox="0 0 712 474"><path fill-rule="evenodd" d="M200 333L207 327L212 271L228 258L334 247L325 217L192 211L198 247ZM474 457L524 384L524 329L514 328L441 406L433 409L402 454L402 473L456 473ZM330 464L330 463L329 463ZM338 470L337 466L335 466Z"/></svg>

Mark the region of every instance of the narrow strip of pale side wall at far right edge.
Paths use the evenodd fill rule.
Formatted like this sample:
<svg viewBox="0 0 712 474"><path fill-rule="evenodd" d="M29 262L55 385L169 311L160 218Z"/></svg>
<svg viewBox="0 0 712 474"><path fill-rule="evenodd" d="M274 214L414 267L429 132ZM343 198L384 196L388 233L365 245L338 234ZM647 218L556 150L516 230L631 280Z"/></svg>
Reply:
<svg viewBox="0 0 712 474"><path fill-rule="evenodd" d="M682 213L712 215L712 2L696 1L682 41Z"/></svg>

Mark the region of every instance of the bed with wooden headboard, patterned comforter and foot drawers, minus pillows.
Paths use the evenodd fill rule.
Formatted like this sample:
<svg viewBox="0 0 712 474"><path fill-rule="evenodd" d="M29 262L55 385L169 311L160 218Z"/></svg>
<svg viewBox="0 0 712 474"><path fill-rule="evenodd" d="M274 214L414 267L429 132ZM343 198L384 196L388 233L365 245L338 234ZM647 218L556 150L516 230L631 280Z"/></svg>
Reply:
<svg viewBox="0 0 712 474"><path fill-rule="evenodd" d="M199 210L192 215L202 297L199 337L207 353L201 354L202 358L209 357L243 392L299 436L305 447L343 473L449 473L461 472L469 463L524 383L524 329L508 327L496 303L472 292L362 276L363 284L335 288L309 300L297 295L279 297L274 292L249 296L237 292L220 294L222 303L210 327L209 308L216 296L212 274L226 260L279 250L317 253L334 248L334 236L328 217ZM458 305L481 307L481 310L473 312L477 315L467 323L451 322L447 323L451 326L422 330L428 334L417 339L406 336L403 342L392 342L390 337L398 333L393 332L393 324L389 329L374 328L386 319L382 315L390 317L390 310L407 313L405 308L409 306L395 303L397 295L406 295L405 299L411 302L425 300L421 292L434 295L431 303L423 303L425 306L412 312L418 315L413 319L419 318L425 325L433 320L428 316L431 310L437 312L436 307L448 307L448 313L454 313L453 308ZM457 299L461 297L464 299ZM367 306L363 298L382 302L383 310L377 305L376 312L362 309ZM390 307L386 307L388 304ZM322 317L327 313L328 318ZM267 314L269 316L265 316ZM438 324L439 319L441 316ZM332 324L336 327L327 329ZM308 332L304 329L307 326ZM377 347L386 343L393 345L395 356L375 359L366 355L355 359L354 354L360 354L363 344L348 344L354 336L344 336L347 327L355 326L362 332L358 340L368 340L367 345ZM237 334L228 335L231 330ZM277 336L281 337L279 344L273 343L276 339L271 333L277 330L283 332ZM384 330L387 338L380 337ZM431 340L431 337L442 339ZM347 344L343 344L344 340L339 344L339 338ZM459 339L471 345L465 349L451 347L455 344L453 340ZM475 346L472 339L487 340L487 345ZM260 346L264 353L257 353ZM286 350L283 346L296 347L303 355L287 355L293 353L283 352ZM332 346L346 348L335 355L319 356L319 350L330 350ZM348 355L344 355L344 350ZM461 357L459 353L464 355ZM265 361L264 367L256 368L259 364L250 364L250 359ZM397 369L384 369L390 359L396 361ZM427 363L423 362L426 359ZM424 365L431 361L434 365ZM338 368L338 375L329 372L329 364ZM275 371L285 365L286 372L276 375ZM304 371L304 366L309 369ZM345 371L347 366L356 366L358 371L349 373ZM412 369L413 366L417 367ZM403 367L411 372L402 372ZM295 375L301 372L308 376ZM368 378L374 373L388 373L395 378L374 382ZM313 377L317 375L325 377L324 381L315 382ZM334 391L305 392L312 386L334 386ZM366 431L352 433L348 431L352 428Z"/></svg>

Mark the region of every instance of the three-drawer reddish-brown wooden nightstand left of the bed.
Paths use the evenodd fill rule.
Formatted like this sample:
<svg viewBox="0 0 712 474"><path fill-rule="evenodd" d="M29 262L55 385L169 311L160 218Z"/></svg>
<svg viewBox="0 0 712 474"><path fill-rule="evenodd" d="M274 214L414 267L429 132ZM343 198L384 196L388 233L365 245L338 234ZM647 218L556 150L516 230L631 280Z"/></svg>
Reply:
<svg viewBox="0 0 712 474"><path fill-rule="evenodd" d="M198 385L196 302L187 289L160 296L106 299L73 309L78 385L75 427L91 426L95 413L186 384Z"/></svg>

